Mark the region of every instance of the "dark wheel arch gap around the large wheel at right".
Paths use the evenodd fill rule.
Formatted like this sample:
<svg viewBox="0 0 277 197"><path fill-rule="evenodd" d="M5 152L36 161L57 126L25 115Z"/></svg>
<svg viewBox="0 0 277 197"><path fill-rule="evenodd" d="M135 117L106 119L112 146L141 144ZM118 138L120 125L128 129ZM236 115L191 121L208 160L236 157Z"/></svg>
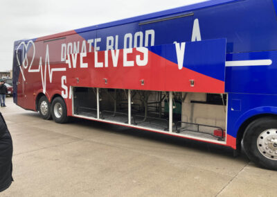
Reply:
<svg viewBox="0 0 277 197"><path fill-rule="evenodd" d="M237 149L238 150L241 149L242 138L243 138L243 135L244 135L244 132L245 132L247 126L249 126L249 123L255 121L256 119L260 119L262 117L274 117L274 118L277 118L277 115L276 114L258 114L256 116L250 117L249 119L244 121L244 123L242 123L242 125L240 126L240 128L238 130L238 135L237 135Z"/></svg>

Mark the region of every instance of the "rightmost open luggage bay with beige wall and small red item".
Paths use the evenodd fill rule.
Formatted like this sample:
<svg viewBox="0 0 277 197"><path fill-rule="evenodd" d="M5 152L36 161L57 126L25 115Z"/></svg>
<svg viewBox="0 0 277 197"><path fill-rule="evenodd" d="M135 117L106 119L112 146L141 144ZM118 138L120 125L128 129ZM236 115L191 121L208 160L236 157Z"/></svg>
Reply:
<svg viewBox="0 0 277 197"><path fill-rule="evenodd" d="M226 132L226 94L183 93L178 133L224 141Z"/></svg>

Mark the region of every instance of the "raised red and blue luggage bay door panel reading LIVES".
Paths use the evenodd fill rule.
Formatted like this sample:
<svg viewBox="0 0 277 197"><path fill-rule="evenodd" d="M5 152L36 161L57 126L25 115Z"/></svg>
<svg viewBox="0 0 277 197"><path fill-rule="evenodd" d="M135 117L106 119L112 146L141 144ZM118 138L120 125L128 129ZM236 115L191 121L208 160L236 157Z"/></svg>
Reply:
<svg viewBox="0 0 277 197"><path fill-rule="evenodd" d="M223 93L225 57L225 39L91 52L78 86Z"/></svg>

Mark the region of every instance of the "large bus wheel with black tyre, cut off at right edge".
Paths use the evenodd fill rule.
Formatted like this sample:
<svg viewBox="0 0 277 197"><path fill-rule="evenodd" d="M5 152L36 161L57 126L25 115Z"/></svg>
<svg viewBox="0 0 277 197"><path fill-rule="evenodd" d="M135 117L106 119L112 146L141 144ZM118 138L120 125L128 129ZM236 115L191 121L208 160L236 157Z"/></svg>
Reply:
<svg viewBox="0 0 277 197"><path fill-rule="evenodd" d="M277 170L277 120L265 117L250 123L244 132L243 146L255 164Z"/></svg>

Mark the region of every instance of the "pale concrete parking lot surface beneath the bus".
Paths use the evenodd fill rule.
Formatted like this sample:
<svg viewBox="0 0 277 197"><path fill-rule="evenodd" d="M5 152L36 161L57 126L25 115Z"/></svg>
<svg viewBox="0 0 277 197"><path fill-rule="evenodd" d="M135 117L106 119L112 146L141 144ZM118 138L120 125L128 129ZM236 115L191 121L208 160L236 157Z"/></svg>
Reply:
<svg viewBox="0 0 277 197"><path fill-rule="evenodd" d="M15 182L0 196L276 196L277 172L229 148L72 119L6 101Z"/></svg>

